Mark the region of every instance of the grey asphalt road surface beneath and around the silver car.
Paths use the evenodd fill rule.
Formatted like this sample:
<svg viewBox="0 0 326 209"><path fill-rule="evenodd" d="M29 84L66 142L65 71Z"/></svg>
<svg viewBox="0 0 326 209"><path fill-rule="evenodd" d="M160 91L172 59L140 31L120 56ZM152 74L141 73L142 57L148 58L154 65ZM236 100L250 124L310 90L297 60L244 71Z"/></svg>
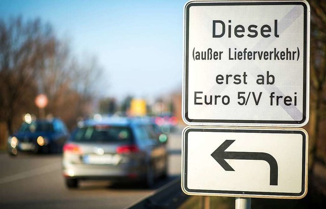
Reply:
<svg viewBox="0 0 326 209"><path fill-rule="evenodd" d="M112 184L108 181L81 182L69 190L61 173L61 155L21 154L10 157L0 152L0 208L125 208L181 172L181 129L169 135L169 178L154 189L141 185Z"/></svg>

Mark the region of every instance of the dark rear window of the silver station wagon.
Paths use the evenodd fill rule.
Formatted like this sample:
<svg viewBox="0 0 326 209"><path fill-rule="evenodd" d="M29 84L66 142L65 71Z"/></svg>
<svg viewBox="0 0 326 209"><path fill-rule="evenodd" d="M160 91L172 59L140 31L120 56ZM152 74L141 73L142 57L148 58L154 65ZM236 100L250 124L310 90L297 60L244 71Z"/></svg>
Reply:
<svg viewBox="0 0 326 209"><path fill-rule="evenodd" d="M73 136L76 142L131 142L129 127L95 125L78 128Z"/></svg>

